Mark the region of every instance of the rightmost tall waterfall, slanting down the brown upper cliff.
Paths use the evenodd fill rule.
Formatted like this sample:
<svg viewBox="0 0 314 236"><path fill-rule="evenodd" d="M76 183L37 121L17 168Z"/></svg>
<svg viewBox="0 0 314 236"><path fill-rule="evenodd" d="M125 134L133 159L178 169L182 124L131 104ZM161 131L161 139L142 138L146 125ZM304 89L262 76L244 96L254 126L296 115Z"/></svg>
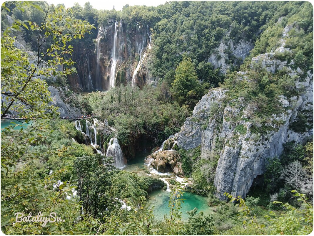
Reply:
<svg viewBox="0 0 314 236"><path fill-rule="evenodd" d="M140 29L141 29L141 26L138 26L138 28L137 28L136 48L137 48L137 53L139 54L139 61L138 61L138 65L136 66L136 68L135 68L135 70L133 72L132 87L135 86L136 74L137 74L139 68L141 67L141 65L143 64L145 57L147 56L147 52L142 55L142 53L144 51L144 45L145 45L145 43L147 41L147 38L146 38L145 32L140 33ZM147 47L149 49L151 49L152 47L150 46L150 43L151 43L151 40L152 40L152 35L149 34L148 25L147 25L146 29L147 29L147 35L149 37L149 45ZM142 40L138 41L138 39L142 39Z"/></svg>

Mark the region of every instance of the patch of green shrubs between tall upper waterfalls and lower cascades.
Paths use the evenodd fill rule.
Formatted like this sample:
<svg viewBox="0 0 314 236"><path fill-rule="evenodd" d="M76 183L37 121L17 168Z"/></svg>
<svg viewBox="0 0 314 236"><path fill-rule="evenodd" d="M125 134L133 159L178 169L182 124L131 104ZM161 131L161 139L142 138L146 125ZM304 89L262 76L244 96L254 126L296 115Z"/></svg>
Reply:
<svg viewBox="0 0 314 236"><path fill-rule="evenodd" d="M159 143L180 131L190 114L187 106L180 107L160 99L158 93L158 87L154 89L146 85L139 89L127 84L105 94L93 92L84 97L89 100L94 113L115 126L119 142L127 145L142 134L157 137Z"/></svg>

